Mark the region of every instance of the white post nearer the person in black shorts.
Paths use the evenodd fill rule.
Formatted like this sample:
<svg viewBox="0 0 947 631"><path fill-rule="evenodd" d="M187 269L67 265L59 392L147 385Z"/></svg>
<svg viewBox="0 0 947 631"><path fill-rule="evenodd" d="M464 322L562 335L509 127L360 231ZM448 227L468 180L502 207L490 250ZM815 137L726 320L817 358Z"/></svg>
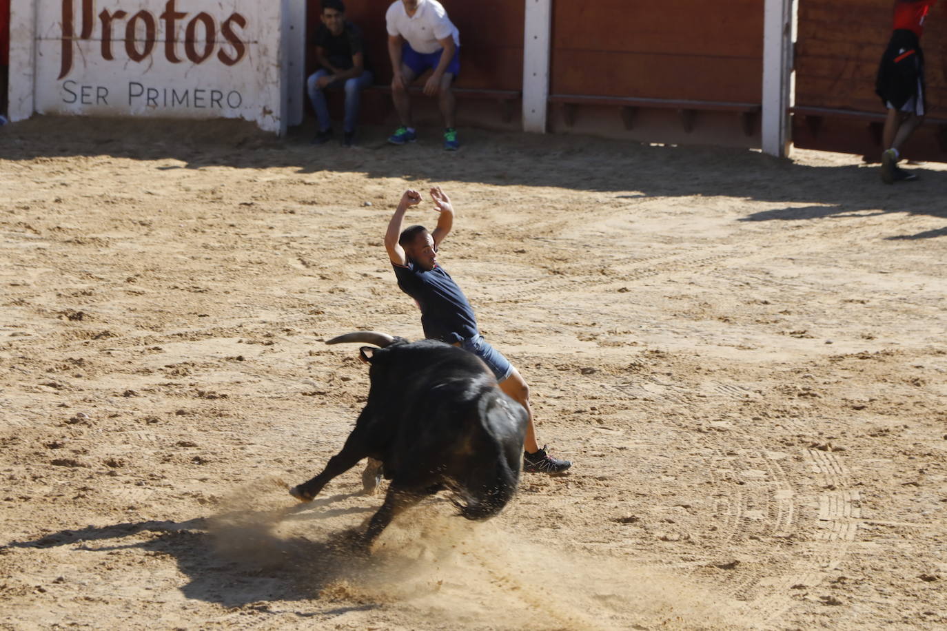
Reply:
<svg viewBox="0 0 947 631"><path fill-rule="evenodd" d="M765 0L763 10L763 152L785 157L790 148L793 105L795 0Z"/></svg>

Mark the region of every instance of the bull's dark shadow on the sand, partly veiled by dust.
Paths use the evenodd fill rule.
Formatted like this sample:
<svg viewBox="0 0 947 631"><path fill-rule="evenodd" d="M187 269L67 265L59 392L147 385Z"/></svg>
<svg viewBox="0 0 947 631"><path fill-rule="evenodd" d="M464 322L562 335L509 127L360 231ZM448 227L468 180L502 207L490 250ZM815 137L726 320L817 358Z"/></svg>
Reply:
<svg viewBox="0 0 947 631"><path fill-rule="evenodd" d="M187 521L139 521L63 530L42 538L12 541L9 548L54 548L100 553L141 550L169 556L189 582L181 587L190 599L225 607L255 606L263 601L313 600L339 579L371 569L372 559L351 552L350 529L329 532L323 540L304 535L279 536L277 524L372 513L377 507L331 508L356 494L340 494L309 504L271 511L232 511ZM315 531L315 529L313 529ZM325 532L318 534L325 535ZM328 613L372 609L346 606ZM259 605L265 611L266 605ZM326 612L324 612L326 613ZM300 614L304 615L304 614Z"/></svg>

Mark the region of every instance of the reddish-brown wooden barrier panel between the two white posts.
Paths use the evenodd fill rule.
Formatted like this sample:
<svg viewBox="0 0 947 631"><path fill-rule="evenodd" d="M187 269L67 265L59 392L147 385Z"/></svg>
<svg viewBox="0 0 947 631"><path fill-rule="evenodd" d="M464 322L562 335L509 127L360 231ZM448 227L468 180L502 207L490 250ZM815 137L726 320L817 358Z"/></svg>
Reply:
<svg viewBox="0 0 947 631"><path fill-rule="evenodd" d="M759 147L763 8L762 0L554 0L550 129Z"/></svg>

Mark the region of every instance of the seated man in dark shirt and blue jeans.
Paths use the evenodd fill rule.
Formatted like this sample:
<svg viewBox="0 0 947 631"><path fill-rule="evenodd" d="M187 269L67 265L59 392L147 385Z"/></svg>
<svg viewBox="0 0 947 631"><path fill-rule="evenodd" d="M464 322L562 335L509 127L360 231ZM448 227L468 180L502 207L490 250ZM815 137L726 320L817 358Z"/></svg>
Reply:
<svg viewBox="0 0 947 631"><path fill-rule="evenodd" d="M362 31L346 20L346 7L342 0L322 0L321 19L322 24L313 37L315 58L321 67L306 81L319 120L319 131L313 143L322 145L332 137L329 107L323 90L345 86L346 118L342 126L342 144L351 147L355 140L362 90L371 85L374 76L366 61Z"/></svg>

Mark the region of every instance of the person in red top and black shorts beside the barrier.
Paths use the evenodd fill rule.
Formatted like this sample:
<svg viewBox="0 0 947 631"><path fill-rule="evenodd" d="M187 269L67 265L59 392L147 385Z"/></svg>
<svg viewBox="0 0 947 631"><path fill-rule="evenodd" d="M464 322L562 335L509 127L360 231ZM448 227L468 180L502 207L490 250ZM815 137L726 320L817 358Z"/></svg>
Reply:
<svg viewBox="0 0 947 631"><path fill-rule="evenodd" d="M924 21L937 0L896 0L894 32L878 67L875 92L887 108L884 119L881 176L884 184L916 180L917 175L898 167L901 148L924 121L924 53L920 35Z"/></svg>

